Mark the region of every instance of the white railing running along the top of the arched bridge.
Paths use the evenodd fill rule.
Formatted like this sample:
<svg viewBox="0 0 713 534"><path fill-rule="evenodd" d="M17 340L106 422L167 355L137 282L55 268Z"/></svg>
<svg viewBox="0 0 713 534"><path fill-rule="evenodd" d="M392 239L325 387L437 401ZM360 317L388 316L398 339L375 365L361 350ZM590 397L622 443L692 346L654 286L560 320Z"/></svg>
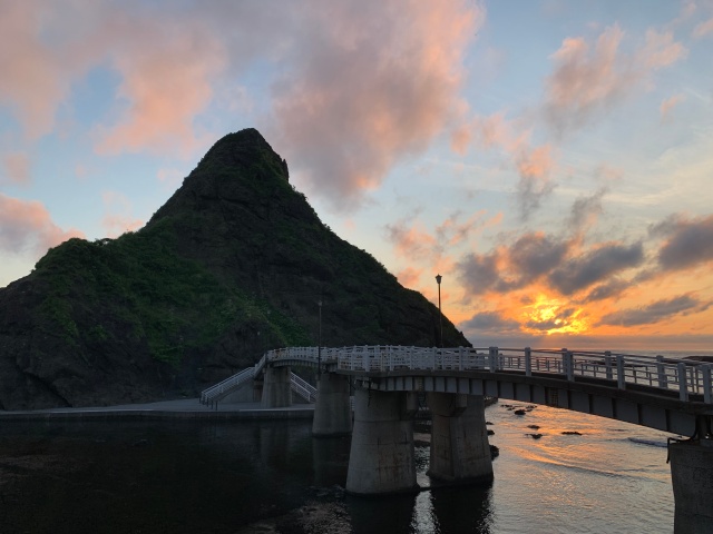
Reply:
<svg viewBox="0 0 713 534"><path fill-rule="evenodd" d="M271 362L302 360L316 364L316 347L291 347L265 353L255 370ZM619 389L627 384L676 392L681 400L701 395L713 404L713 364L676 360L663 356L637 356L612 352L556 349L456 347L423 348L392 345L322 348L321 360L341 372L385 373L393 370L488 370L519 373L526 376L553 375L575 382L577 378L611 380ZM614 385L613 384L613 385Z"/></svg>

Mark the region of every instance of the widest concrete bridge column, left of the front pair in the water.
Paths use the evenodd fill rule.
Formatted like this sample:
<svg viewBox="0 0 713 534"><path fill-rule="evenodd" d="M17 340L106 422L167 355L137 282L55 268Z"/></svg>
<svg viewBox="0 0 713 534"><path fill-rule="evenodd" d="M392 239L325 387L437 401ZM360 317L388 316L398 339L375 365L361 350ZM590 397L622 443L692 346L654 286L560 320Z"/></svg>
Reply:
<svg viewBox="0 0 713 534"><path fill-rule="evenodd" d="M346 491L360 495L411 493L416 483L412 393L356 389Z"/></svg>

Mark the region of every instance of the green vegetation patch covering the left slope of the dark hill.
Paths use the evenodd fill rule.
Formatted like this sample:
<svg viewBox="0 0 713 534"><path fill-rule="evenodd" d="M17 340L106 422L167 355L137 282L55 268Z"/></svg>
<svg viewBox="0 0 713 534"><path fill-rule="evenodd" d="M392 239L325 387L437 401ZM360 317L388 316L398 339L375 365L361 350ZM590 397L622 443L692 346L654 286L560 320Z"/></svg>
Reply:
<svg viewBox="0 0 713 534"><path fill-rule="evenodd" d="M262 327L271 345L312 343L268 303L179 256L170 218L118 239L70 239L40 259L36 276L50 288L39 318L76 347L80 338L120 343L115 333L123 332L145 339L157 360L178 364L186 350L208 349L228 328L245 325ZM81 333L76 307L94 317Z"/></svg>

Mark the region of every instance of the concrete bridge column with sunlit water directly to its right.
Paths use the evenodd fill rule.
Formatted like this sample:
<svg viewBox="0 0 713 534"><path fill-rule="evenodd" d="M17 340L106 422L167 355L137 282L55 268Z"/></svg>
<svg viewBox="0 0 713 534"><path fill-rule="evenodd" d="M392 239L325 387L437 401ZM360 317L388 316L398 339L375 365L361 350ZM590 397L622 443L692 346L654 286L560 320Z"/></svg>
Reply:
<svg viewBox="0 0 713 534"><path fill-rule="evenodd" d="M431 455L428 475L452 484L492 481L482 395L429 393Z"/></svg>

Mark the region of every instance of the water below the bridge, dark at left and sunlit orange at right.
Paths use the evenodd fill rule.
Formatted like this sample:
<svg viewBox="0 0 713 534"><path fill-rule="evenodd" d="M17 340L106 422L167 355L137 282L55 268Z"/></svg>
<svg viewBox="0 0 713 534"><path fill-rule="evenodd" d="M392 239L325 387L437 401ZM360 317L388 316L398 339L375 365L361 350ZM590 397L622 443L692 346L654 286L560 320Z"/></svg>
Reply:
<svg viewBox="0 0 713 534"><path fill-rule="evenodd" d="M340 491L349 438L314 439L306 421L2 423L0 533L673 531L666 434L544 406L486 417L491 487L369 500Z"/></svg>

